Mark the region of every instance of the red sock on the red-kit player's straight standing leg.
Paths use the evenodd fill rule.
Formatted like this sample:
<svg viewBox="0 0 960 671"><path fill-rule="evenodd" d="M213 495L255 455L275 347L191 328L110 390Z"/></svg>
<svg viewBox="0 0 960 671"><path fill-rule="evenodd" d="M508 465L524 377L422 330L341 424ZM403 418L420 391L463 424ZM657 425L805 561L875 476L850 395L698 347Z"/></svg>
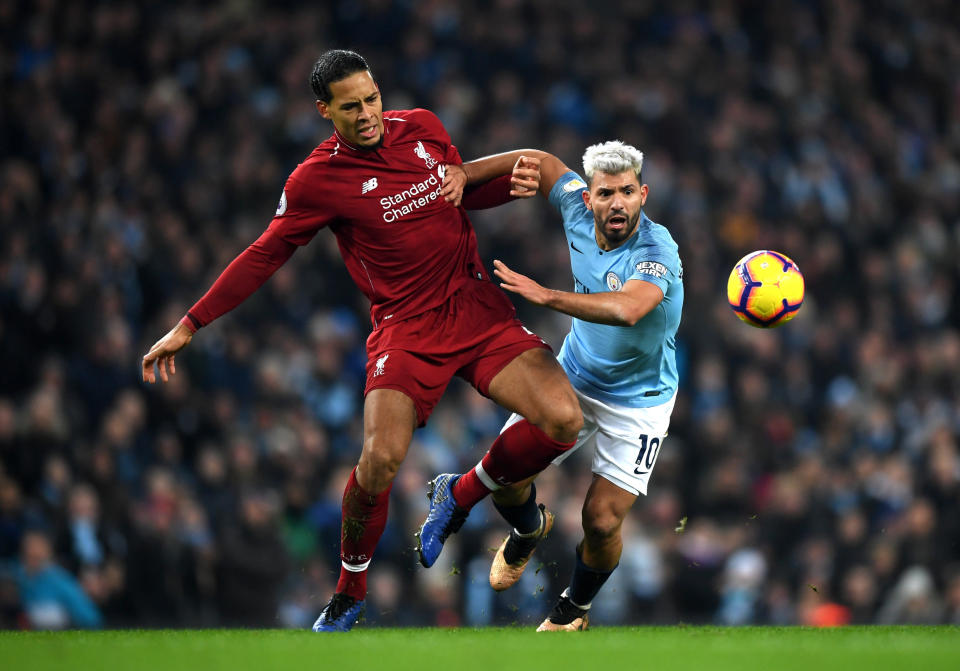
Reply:
<svg viewBox="0 0 960 671"><path fill-rule="evenodd" d="M387 525L387 507L390 489L379 494L368 494L357 483L354 468L343 490L340 517L340 580L337 592L355 599L367 595L367 567L377 542Z"/></svg>

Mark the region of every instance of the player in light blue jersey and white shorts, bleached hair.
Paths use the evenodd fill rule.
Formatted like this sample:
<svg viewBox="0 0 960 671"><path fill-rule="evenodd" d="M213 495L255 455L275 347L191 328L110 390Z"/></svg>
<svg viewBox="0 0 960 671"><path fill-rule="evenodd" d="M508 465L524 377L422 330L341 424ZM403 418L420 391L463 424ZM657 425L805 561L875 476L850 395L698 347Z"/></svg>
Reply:
<svg viewBox="0 0 960 671"><path fill-rule="evenodd" d="M576 446L554 463L590 449L594 476L570 586L537 631L577 631L586 628L594 596L620 561L623 519L647 493L667 435L677 391L683 268L670 233L643 213L649 188L640 178L637 149L619 141L588 147L586 181L555 156L524 154L532 154L521 161L529 165L539 159L540 192L563 216L575 291L545 288L500 261L494 274L504 289L573 316L559 359L580 398L584 427ZM520 419L513 415L507 426ZM496 590L520 578L553 524L535 497L529 481L493 493L514 526L490 570Z"/></svg>

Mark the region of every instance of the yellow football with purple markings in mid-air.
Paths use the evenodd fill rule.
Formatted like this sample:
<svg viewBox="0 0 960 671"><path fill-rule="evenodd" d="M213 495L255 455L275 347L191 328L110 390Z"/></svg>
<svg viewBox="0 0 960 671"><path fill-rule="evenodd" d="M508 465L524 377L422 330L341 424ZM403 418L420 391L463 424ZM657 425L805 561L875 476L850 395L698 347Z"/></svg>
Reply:
<svg viewBox="0 0 960 671"><path fill-rule="evenodd" d="M794 318L803 305L803 275L779 252L744 256L730 272L727 300L734 313L757 328L773 328Z"/></svg>

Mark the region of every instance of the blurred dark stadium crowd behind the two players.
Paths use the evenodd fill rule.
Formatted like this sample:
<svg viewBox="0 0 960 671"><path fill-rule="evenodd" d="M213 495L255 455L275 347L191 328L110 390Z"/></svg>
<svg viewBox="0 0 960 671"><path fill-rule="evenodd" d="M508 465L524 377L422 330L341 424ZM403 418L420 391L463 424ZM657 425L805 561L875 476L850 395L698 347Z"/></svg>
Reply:
<svg viewBox="0 0 960 671"><path fill-rule="evenodd" d="M308 627L329 597L369 332L333 236L203 329L171 383L139 359L328 136L307 77L332 47L465 159L646 153L646 211L685 266L682 385L594 622L960 622L958 5L612 4L0 0L0 626ZM543 202L473 220L488 263L570 286ZM807 281L771 332L725 304L759 248ZM559 347L565 318L518 308ZM559 525L513 590L486 584L506 532L488 504L440 565L412 551L428 478L503 419L456 381L418 432L370 624L552 605L583 459L541 478Z"/></svg>

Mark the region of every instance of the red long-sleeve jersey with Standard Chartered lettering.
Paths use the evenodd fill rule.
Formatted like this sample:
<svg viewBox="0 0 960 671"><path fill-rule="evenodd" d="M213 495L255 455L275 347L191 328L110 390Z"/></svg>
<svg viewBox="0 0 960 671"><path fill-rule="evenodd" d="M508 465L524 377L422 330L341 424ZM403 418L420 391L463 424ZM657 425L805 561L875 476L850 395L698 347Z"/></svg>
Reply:
<svg viewBox="0 0 960 671"><path fill-rule="evenodd" d="M336 131L290 175L266 232L241 253L184 318L193 330L232 310L329 226L374 328L443 303L470 278L487 278L463 207L440 196L444 164L462 164L440 120L423 109L383 113L375 150ZM477 207L509 200L509 176L475 191ZM470 196L464 205L471 206Z"/></svg>

